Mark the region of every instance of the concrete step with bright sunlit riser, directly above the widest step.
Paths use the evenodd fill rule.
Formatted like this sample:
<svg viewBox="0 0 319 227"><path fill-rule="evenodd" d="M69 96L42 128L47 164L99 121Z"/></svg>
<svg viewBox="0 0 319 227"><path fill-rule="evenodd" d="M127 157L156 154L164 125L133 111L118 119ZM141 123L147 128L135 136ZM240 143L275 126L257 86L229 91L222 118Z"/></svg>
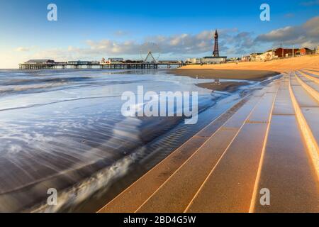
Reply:
<svg viewBox="0 0 319 227"><path fill-rule="evenodd" d="M308 153L319 179L319 102L291 75L289 92Z"/></svg>

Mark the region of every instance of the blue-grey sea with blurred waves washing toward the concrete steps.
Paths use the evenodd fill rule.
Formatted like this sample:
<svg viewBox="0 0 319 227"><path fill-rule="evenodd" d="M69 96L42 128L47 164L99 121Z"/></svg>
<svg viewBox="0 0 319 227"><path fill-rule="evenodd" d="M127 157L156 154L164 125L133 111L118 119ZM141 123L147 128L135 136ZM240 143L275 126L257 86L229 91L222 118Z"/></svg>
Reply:
<svg viewBox="0 0 319 227"><path fill-rule="evenodd" d="M259 85L229 94L199 82L213 80L165 70L0 70L0 211L69 211L101 189L108 193L132 166L149 170ZM198 123L124 117L121 96L138 86L198 92ZM57 206L46 204L52 188Z"/></svg>

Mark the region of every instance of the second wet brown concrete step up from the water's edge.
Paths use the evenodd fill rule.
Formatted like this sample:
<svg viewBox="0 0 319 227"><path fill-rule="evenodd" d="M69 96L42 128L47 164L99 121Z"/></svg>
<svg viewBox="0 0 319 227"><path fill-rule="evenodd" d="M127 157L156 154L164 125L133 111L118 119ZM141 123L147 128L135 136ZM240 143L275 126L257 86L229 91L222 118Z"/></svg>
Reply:
<svg viewBox="0 0 319 227"><path fill-rule="evenodd" d="M266 94L265 94L266 95ZM181 213L262 99L254 96L148 198L137 212Z"/></svg>

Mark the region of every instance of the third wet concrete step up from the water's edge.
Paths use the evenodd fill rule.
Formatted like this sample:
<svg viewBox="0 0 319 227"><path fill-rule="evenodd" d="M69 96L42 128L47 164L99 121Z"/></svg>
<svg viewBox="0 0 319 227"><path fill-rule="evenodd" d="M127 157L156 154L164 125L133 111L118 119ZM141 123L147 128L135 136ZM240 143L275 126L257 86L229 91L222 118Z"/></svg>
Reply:
<svg viewBox="0 0 319 227"><path fill-rule="evenodd" d="M259 101L218 165L211 170L186 212L250 211L279 80L274 84L274 88L272 92L264 94Z"/></svg>

